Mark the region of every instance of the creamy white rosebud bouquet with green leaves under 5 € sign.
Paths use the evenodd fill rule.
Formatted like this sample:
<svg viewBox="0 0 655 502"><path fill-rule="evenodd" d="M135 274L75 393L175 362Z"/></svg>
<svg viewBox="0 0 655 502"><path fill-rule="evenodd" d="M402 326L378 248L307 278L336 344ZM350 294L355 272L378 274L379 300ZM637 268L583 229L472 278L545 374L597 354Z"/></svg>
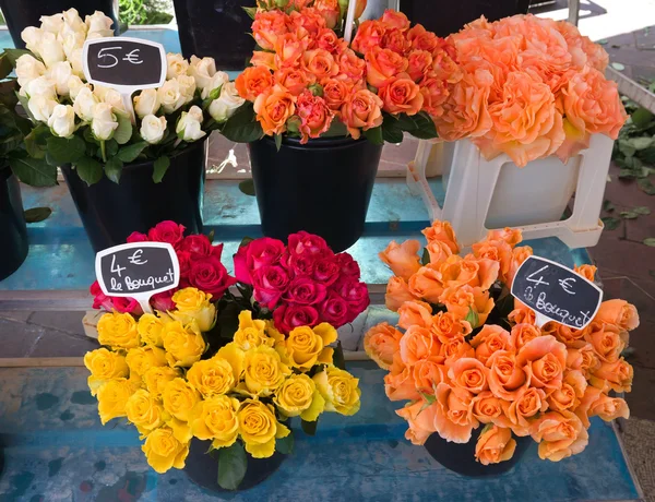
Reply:
<svg viewBox="0 0 655 502"><path fill-rule="evenodd" d="M56 181L57 166L71 164L88 184L105 174L119 182L124 164L154 160L162 181L170 156L217 129L243 104L212 58L168 53L166 82L132 96L135 122L121 95L85 82L82 48L88 38L114 35L111 20L75 9L40 17L21 34L27 50L8 50L15 63L19 99L33 121L25 138L25 168Z"/></svg>

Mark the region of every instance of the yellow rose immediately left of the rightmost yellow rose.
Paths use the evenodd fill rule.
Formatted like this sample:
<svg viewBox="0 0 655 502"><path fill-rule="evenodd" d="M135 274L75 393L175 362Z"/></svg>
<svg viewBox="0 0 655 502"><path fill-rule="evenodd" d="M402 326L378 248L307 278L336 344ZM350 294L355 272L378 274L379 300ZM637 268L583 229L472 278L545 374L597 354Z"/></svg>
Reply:
<svg viewBox="0 0 655 502"><path fill-rule="evenodd" d="M297 417L314 421L325 407L325 399L313 380L306 374L294 374L286 379L275 391L273 403L287 417Z"/></svg>

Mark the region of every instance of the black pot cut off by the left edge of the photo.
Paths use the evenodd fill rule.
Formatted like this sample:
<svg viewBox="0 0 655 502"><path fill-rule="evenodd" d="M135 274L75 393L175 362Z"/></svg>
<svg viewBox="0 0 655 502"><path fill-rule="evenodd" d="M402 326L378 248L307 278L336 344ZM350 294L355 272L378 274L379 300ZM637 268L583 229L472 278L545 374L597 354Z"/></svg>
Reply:
<svg viewBox="0 0 655 502"><path fill-rule="evenodd" d="M0 170L0 280L13 274L27 256L27 228L19 180Z"/></svg>

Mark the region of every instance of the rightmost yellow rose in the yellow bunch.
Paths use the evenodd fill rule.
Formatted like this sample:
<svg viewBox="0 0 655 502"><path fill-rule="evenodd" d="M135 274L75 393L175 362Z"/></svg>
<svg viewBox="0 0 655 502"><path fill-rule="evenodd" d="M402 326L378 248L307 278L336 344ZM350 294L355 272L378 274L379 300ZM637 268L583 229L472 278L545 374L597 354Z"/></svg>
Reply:
<svg viewBox="0 0 655 502"><path fill-rule="evenodd" d="M335 367L313 375L313 381L325 399L325 411L355 415L359 411L359 379Z"/></svg>

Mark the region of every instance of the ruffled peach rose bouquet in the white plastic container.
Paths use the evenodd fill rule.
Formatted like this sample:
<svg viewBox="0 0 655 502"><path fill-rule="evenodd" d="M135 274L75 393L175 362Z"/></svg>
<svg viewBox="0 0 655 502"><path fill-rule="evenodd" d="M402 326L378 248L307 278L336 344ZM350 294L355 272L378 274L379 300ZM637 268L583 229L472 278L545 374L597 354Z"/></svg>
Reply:
<svg viewBox="0 0 655 502"><path fill-rule="evenodd" d="M487 159L567 162L592 134L616 140L626 121L617 84L604 76L607 52L565 21L481 17L446 44L456 64L443 65L451 77L434 116L439 136L471 139Z"/></svg>

